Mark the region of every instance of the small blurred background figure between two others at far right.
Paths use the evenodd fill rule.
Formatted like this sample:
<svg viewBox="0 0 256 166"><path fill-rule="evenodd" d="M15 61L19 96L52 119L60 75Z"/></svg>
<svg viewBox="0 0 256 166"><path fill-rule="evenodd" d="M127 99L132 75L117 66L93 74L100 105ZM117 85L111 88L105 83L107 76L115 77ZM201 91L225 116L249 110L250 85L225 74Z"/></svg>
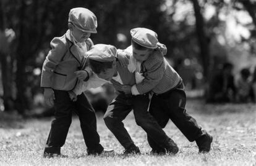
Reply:
<svg viewBox="0 0 256 166"><path fill-rule="evenodd" d="M240 71L240 77L237 80L237 101L247 103L253 101L254 92L252 90L252 81L250 80L250 70L243 68Z"/></svg>

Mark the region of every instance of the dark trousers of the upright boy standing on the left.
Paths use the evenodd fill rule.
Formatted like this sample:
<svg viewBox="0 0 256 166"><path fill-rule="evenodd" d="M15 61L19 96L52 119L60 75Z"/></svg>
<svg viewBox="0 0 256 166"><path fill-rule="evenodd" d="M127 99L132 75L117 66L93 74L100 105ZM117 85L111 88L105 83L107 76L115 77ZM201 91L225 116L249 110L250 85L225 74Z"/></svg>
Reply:
<svg viewBox="0 0 256 166"><path fill-rule="evenodd" d="M54 95L55 119L51 123L51 130L46 143L48 150L46 152L51 152L51 147L60 149L64 145L72 121L72 111L75 111L79 116L87 151L103 151L103 147L100 144L100 136L96 131L95 111L84 93L77 96L77 101L75 102L70 100L66 91L54 90Z"/></svg>

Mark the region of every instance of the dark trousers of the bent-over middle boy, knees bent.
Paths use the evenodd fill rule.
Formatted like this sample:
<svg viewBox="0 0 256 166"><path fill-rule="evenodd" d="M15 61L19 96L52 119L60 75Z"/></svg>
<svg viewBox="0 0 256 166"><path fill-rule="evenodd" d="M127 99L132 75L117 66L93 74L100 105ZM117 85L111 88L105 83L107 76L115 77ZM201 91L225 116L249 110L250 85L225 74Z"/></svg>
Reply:
<svg viewBox="0 0 256 166"><path fill-rule="evenodd" d="M127 149L131 144L134 144L122 123L132 109L134 110L137 125L142 127L158 146L164 148L169 143L171 138L164 133L160 125L148 113L148 104L149 99L147 95L130 95L128 97L127 95L120 94L108 106L104 116L105 124L124 148Z"/></svg>

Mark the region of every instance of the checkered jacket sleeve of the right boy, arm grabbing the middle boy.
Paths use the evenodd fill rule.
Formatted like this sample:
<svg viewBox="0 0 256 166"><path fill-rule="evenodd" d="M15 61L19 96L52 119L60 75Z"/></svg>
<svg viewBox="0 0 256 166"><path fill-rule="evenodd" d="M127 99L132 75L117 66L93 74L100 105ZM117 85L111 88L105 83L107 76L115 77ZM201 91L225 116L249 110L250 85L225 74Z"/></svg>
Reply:
<svg viewBox="0 0 256 166"><path fill-rule="evenodd" d="M136 88L140 94L150 92L154 89L157 84L161 81L164 75L164 63L163 58L157 55L150 55L148 60L142 63L144 71L143 76L145 77L142 82L136 84Z"/></svg>

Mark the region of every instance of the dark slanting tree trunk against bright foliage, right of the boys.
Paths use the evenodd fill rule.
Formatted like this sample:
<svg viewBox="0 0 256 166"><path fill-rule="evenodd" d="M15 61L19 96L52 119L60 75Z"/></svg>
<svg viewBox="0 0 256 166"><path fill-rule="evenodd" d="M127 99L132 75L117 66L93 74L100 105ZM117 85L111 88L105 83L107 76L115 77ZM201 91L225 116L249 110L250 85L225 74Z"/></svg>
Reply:
<svg viewBox="0 0 256 166"><path fill-rule="evenodd" d="M205 23L203 20L203 16L200 12L201 7L198 4L197 0L191 0L194 6L195 12L195 23L196 23L196 31L197 31L197 38L200 45L200 57L202 60L203 66L203 76L206 80L208 80L208 66L209 66L209 39L205 34Z"/></svg>

